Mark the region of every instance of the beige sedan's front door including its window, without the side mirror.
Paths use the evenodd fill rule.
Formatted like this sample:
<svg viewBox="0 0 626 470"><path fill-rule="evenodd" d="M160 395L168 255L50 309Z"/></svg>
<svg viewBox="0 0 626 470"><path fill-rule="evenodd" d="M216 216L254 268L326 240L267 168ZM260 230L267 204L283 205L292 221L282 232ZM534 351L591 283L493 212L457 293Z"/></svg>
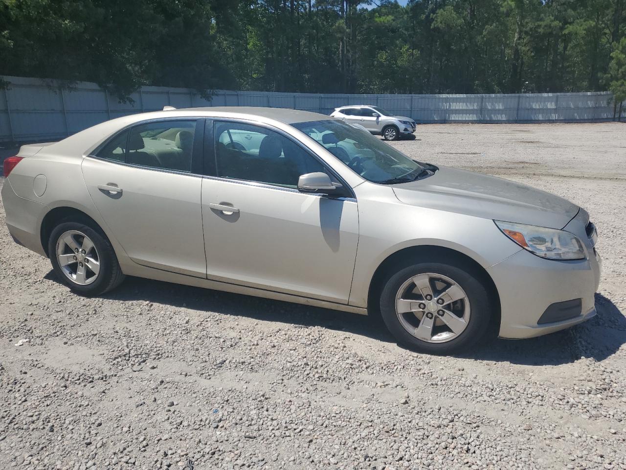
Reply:
<svg viewBox="0 0 626 470"><path fill-rule="evenodd" d="M258 147L231 143L242 132ZM202 181L207 278L346 304L359 238L351 189L299 192L301 174L332 172L276 130L215 121L212 134Z"/></svg>

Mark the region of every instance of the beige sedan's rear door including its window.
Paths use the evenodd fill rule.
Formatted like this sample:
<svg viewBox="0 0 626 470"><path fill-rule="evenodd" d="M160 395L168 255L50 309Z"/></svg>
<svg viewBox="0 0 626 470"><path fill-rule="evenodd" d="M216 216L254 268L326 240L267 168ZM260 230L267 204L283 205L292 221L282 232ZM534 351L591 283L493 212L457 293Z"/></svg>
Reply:
<svg viewBox="0 0 626 470"><path fill-rule="evenodd" d="M204 278L204 120L143 122L83 159L85 184L135 263Z"/></svg>

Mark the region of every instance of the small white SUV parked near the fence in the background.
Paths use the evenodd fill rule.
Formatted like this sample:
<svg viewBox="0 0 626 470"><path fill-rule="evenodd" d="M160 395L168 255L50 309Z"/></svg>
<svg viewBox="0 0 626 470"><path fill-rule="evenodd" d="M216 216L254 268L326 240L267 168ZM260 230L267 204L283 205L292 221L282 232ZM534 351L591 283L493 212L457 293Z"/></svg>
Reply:
<svg viewBox="0 0 626 470"><path fill-rule="evenodd" d="M372 134L382 135L385 140L397 140L415 132L415 121L404 116L394 116L377 106L342 106L336 108L332 117L351 124L360 124Z"/></svg>

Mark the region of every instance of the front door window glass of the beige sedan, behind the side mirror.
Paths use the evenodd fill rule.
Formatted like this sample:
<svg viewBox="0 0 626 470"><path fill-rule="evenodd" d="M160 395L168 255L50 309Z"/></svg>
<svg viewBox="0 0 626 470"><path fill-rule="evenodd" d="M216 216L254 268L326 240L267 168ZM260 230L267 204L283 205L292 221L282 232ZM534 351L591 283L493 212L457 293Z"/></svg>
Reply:
<svg viewBox="0 0 626 470"><path fill-rule="evenodd" d="M217 176L297 187L300 175L326 172L319 160L284 135L237 122L215 122Z"/></svg>

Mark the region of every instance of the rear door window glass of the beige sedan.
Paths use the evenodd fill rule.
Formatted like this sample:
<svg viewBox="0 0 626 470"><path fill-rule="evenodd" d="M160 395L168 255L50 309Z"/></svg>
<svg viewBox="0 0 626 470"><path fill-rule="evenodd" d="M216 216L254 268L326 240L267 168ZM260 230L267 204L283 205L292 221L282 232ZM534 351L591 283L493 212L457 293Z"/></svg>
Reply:
<svg viewBox="0 0 626 470"><path fill-rule="evenodd" d="M131 127L113 137L98 157L131 165L190 172L195 120L166 120Z"/></svg>

